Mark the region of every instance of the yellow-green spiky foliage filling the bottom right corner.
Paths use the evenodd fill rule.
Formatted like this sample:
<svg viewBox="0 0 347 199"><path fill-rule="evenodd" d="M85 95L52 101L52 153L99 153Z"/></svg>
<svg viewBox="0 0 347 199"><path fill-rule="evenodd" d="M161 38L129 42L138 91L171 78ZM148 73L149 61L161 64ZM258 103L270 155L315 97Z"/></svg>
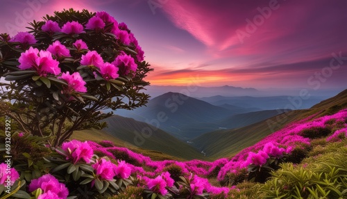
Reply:
<svg viewBox="0 0 347 199"><path fill-rule="evenodd" d="M322 154L312 164L282 164L262 187L264 198L346 198L346 146Z"/></svg>

